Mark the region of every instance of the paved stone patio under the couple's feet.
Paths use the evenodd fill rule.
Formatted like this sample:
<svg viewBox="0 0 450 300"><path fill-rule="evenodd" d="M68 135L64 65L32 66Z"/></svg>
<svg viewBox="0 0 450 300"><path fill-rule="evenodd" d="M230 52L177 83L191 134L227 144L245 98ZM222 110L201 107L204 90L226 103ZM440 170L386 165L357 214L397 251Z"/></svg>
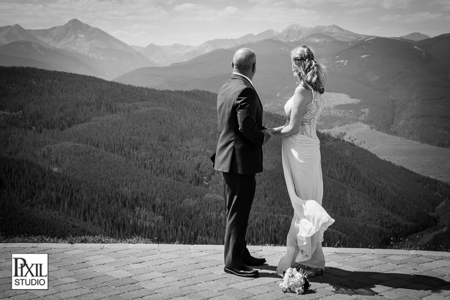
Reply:
<svg viewBox="0 0 450 300"><path fill-rule="evenodd" d="M276 264L285 247L249 246L267 263L259 277L223 272L223 246L0 244L0 299L450 299L450 253L323 248L326 269L303 295L283 293ZM12 253L48 254L48 290L12 290Z"/></svg>

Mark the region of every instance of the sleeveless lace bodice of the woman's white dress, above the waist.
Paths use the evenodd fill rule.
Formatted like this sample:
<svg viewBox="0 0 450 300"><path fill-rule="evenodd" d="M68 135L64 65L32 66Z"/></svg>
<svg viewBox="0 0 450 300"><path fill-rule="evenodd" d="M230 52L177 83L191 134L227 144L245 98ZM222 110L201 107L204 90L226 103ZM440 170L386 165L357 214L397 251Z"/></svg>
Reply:
<svg viewBox="0 0 450 300"><path fill-rule="evenodd" d="M304 107L303 117L301 120L300 128L297 133L306 135L308 137L318 139L315 134L315 124L317 123L320 114L322 113L322 109L325 103L325 99L323 94L318 93L315 90L312 91L312 101L311 103L306 104ZM287 100L286 104L284 104L284 112L287 116L287 123L290 120L290 111L292 110L292 101L290 98Z"/></svg>

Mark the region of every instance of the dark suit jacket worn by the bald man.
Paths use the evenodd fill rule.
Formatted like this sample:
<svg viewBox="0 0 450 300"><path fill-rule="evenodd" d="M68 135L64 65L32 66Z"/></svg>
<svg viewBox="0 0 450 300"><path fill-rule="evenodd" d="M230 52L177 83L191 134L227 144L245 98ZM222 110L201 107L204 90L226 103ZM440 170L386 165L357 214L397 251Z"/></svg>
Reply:
<svg viewBox="0 0 450 300"><path fill-rule="evenodd" d="M238 174L262 172L262 104L245 77L231 74L220 88L217 118L220 136L214 168Z"/></svg>

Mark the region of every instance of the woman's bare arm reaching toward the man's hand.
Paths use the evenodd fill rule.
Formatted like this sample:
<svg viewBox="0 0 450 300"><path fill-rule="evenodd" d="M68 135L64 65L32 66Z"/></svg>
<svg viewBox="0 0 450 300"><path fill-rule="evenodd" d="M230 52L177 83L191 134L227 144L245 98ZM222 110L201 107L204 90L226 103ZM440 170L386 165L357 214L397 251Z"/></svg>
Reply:
<svg viewBox="0 0 450 300"><path fill-rule="evenodd" d="M297 86L292 99L289 123L284 126L273 128L269 134L275 136L289 136L297 133L303 118L304 107L312 100L311 92L303 86Z"/></svg>

